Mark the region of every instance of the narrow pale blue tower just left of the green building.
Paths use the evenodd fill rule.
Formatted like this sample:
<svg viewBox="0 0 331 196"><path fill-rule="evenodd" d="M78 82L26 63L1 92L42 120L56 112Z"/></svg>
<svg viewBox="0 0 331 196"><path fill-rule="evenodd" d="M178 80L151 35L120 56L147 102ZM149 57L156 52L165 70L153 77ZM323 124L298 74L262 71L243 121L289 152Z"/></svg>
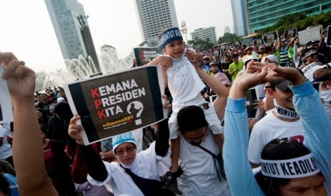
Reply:
<svg viewBox="0 0 331 196"><path fill-rule="evenodd" d="M261 1L261 0L258 0ZM248 33L246 25L246 0L231 1L234 33L237 36L246 36Z"/></svg>

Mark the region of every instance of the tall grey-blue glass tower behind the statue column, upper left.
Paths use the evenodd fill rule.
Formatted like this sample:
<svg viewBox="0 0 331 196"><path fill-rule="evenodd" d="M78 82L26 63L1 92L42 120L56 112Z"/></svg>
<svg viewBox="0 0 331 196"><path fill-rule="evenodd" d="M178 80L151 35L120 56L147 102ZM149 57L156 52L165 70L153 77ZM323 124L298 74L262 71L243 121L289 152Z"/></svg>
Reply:
<svg viewBox="0 0 331 196"><path fill-rule="evenodd" d="M45 3L63 58L71 60L79 55L86 58L88 53L80 33L81 25L76 18L86 16L83 5L77 0L45 0ZM88 26L88 21L85 25Z"/></svg>

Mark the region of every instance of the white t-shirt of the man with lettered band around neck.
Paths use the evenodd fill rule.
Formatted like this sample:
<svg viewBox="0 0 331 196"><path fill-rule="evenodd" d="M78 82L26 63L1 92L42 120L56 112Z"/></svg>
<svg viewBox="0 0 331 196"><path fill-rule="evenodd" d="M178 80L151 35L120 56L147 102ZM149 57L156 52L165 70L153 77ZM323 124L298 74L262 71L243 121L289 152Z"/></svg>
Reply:
<svg viewBox="0 0 331 196"><path fill-rule="evenodd" d="M264 146L275 138L287 138L290 141L295 140L303 143L301 120L294 122L282 121L276 118L273 112L269 112L253 126L248 143L248 160L251 163L261 163L261 152Z"/></svg>

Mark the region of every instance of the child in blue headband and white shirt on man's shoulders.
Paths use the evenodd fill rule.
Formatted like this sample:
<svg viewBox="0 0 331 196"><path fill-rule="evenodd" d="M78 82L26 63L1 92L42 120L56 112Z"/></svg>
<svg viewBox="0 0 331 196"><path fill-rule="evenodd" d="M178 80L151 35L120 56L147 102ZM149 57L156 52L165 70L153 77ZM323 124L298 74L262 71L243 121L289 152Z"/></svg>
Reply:
<svg viewBox="0 0 331 196"><path fill-rule="evenodd" d="M148 65L162 65L164 87L169 87L173 97L169 130L172 148L172 168L170 169L170 173L174 175L179 169L180 138L177 132L177 113L180 109L195 105L204 110L208 126L213 132L214 139L219 148L219 153L222 152L223 130L221 129L221 121L216 115L214 107L209 105L209 102L206 102L200 94L204 87L206 87L195 68L198 67L201 61L201 54L191 49L185 49L182 33L177 27L168 28L162 32L160 40L164 55L159 55L152 62L149 62ZM188 140L187 142L191 143ZM196 145L198 144L196 143ZM169 178L172 178L172 175Z"/></svg>

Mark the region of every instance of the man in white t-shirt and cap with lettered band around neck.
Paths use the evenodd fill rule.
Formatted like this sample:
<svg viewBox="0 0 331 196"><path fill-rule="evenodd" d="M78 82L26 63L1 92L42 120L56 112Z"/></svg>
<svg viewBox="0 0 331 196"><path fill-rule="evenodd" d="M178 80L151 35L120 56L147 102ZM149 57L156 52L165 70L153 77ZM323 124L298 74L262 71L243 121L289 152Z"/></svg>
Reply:
<svg viewBox="0 0 331 196"><path fill-rule="evenodd" d="M275 138L285 141L303 142L303 126L293 106L293 92L288 80L271 82L267 93L275 99L275 108L258 121L251 133L248 144L248 160L252 168L261 164L263 147Z"/></svg>

